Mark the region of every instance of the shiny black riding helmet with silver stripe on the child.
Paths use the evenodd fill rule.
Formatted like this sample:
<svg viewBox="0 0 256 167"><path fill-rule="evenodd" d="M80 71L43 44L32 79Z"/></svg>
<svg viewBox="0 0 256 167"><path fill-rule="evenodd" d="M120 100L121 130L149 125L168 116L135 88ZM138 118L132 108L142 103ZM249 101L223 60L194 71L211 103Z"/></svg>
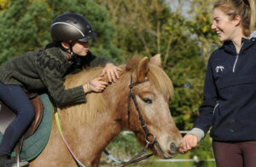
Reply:
<svg viewBox="0 0 256 167"><path fill-rule="evenodd" d="M50 34L54 42L67 43L73 43L74 41L87 42L96 37L90 22L82 15L73 13L57 16L51 23Z"/></svg>

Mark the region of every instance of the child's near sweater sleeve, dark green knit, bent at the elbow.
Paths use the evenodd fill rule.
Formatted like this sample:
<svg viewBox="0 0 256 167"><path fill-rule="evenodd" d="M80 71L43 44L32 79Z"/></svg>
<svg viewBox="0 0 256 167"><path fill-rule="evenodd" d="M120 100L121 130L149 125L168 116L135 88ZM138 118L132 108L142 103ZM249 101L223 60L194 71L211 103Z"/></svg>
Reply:
<svg viewBox="0 0 256 167"><path fill-rule="evenodd" d="M83 86L72 89L64 87L64 73L67 69L65 64L61 63L51 55L38 55L38 73L49 95L59 107L86 102Z"/></svg>

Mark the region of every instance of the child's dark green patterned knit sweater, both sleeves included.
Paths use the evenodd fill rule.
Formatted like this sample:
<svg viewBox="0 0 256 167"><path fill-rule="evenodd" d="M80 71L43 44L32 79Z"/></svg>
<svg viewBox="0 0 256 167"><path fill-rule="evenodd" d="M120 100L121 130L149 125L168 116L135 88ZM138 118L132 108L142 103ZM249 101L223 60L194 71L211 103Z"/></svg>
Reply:
<svg viewBox="0 0 256 167"><path fill-rule="evenodd" d="M90 52L80 57L82 66L104 66L111 60L96 58ZM113 63L113 62L112 62ZM57 47L46 47L15 56L0 66L0 81L20 85L26 92L48 91L59 107L86 102L83 86L64 89L64 78L76 70L73 61Z"/></svg>

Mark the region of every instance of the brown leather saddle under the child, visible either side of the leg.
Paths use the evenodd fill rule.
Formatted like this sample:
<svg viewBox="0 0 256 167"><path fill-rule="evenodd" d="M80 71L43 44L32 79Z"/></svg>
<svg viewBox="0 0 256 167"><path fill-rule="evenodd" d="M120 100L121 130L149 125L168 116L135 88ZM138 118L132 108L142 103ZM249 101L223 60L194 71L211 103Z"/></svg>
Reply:
<svg viewBox="0 0 256 167"><path fill-rule="evenodd" d="M17 144L15 148L16 155L20 154L20 149L22 146L23 139L33 135L33 133L38 129L39 124L41 123L41 119L43 116L44 104L40 101L39 95L37 94L28 94L27 95L32 101L32 105L35 109L35 118L26 130L25 135L22 136L20 142ZM0 131L3 134L4 131L7 129L9 124L15 119L16 115L15 112L12 112L9 107L5 106L2 101L0 101Z"/></svg>

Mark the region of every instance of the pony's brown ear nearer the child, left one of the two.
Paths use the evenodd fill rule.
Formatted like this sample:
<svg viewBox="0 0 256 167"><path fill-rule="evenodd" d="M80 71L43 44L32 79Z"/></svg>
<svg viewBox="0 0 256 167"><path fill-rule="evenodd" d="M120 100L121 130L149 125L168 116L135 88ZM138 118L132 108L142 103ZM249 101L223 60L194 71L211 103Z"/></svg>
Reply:
<svg viewBox="0 0 256 167"><path fill-rule="evenodd" d="M137 65L137 82L142 82L148 73L148 57L144 57Z"/></svg>

